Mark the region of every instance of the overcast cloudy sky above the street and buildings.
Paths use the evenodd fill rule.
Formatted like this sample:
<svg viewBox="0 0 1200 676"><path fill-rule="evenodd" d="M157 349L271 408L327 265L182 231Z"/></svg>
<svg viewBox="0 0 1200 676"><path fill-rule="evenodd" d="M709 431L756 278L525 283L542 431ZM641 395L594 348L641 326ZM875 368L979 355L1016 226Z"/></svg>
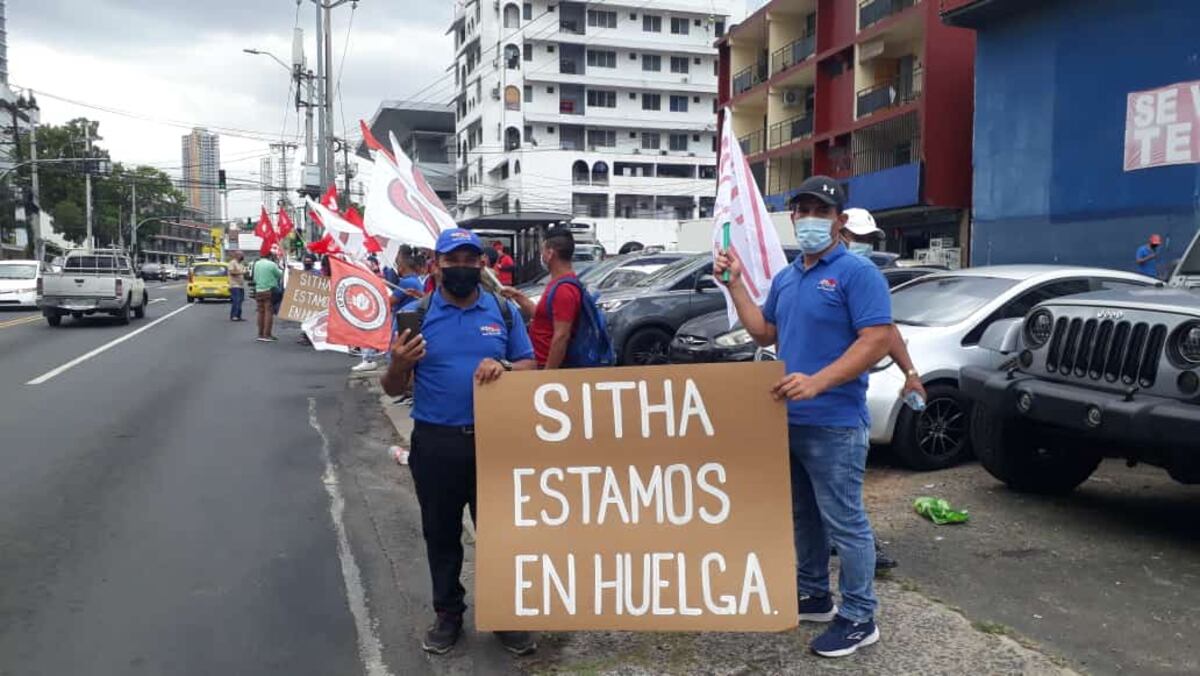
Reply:
<svg viewBox="0 0 1200 676"><path fill-rule="evenodd" d="M751 7L762 0L750 0ZM449 101L454 0L361 0L353 14L335 103L352 137L380 101ZM180 137L190 127L245 130L295 140L302 133L288 98L288 73L266 56L290 61L296 0L10 0L8 72L13 86L34 89L44 124L85 115L100 120L115 160L179 174ZM334 64L347 46L350 5L334 10ZM316 68L316 8L299 5L310 67ZM335 71L336 72L336 71ZM433 86L430 86L433 84ZM56 100L70 98L139 118ZM182 122L182 124L176 124ZM299 138L298 138L299 137ZM222 166L232 180L259 181L262 138L221 134ZM278 177L276 177L278 184ZM289 179L295 186L295 179ZM257 216L258 192L232 192L233 217Z"/></svg>

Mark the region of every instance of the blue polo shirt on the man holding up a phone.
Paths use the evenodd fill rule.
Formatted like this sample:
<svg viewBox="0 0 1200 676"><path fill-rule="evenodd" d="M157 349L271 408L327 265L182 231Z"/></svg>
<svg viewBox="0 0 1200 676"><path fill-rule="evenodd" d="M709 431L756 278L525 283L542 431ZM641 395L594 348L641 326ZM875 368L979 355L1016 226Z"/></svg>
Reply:
<svg viewBox="0 0 1200 676"><path fill-rule="evenodd" d="M461 309L434 291L421 335L425 358L416 365L413 419L432 425L475 424L475 369L492 359L533 359L533 343L510 301L512 331L504 327L497 298L480 287L475 304Z"/></svg>

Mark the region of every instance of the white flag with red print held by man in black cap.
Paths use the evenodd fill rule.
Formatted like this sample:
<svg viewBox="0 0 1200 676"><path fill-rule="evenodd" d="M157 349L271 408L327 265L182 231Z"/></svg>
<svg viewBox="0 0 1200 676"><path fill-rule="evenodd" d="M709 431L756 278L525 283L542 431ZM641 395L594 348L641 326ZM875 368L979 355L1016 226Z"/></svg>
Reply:
<svg viewBox="0 0 1200 676"><path fill-rule="evenodd" d="M728 253L742 264L742 280L750 298L760 306L767 301L770 281L787 267L787 256L779 243L770 211L762 199L758 184L733 136L726 115L721 130L721 161L718 166L716 204L713 213L713 251L725 249L725 225L730 225ZM733 299L724 286L730 327L738 321Z"/></svg>

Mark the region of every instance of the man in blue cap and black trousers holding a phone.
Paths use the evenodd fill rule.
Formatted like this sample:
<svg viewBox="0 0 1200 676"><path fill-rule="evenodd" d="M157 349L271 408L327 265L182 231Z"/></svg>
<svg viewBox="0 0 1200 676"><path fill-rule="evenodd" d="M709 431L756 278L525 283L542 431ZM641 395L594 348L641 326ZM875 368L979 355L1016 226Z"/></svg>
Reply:
<svg viewBox="0 0 1200 676"><path fill-rule="evenodd" d="M520 311L480 286L484 245L469 231L445 231L437 241L440 286L428 297L421 330L395 341L383 389L403 394L415 379L408 466L421 507L433 610L422 647L442 654L462 635L462 510L475 516L475 384L505 371L533 369L533 345ZM528 632L497 632L510 652L528 654Z"/></svg>

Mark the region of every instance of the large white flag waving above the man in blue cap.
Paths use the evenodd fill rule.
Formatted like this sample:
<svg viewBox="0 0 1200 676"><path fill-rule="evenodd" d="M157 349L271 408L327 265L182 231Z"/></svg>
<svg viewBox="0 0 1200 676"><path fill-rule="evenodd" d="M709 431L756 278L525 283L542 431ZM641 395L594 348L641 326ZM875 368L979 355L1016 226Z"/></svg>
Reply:
<svg viewBox="0 0 1200 676"><path fill-rule="evenodd" d="M433 249L444 229L457 227L433 189L395 139L385 148L362 122L362 138L376 151L366 203L367 233L388 240L389 251L400 244Z"/></svg>

